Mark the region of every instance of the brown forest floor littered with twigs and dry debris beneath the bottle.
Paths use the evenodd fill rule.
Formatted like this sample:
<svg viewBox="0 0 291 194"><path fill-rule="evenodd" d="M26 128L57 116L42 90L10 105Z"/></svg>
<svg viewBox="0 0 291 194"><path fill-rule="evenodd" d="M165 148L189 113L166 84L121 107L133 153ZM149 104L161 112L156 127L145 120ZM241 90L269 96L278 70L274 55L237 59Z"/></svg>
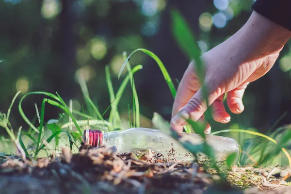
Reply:
<svg viewBox="0 0 291 194"><path fill-rule="evenodd" d="M52 154L37 162L0 155L1 194L289 194L286 178L234 166L228 181L201 164L178 162L150 150L116 154L109 147Z"/></svg>

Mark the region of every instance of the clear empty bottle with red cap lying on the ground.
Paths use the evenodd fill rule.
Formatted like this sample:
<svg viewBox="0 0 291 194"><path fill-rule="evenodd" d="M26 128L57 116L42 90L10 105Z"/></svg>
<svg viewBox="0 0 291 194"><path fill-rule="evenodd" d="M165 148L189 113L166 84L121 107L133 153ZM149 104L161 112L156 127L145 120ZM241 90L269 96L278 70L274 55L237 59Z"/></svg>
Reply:
<svg viewBox="0 0 291 194"><path fill-rule="evenodd" d="M204 139L195 133L182 133L183 139L190 141L194 145L200 145ZM163 154L168 158L172 148L175 150L175 159L178 161L192 161L193 155L181 146L175 139L157 129L132 128L119 131L101 132L100 130L86 129L83 133L86 145L98 147L102 144L116 146L117 152L137 152L139 150L150 149L156 154ZM239 155L238 143L231 138L206 135L207 143L214 149L216 162L225 161L227 156L233 152ZM198 154L202 160L205 155ZM173 157L172 157L173 158ZM238 158L238 157L237 157ZM200 160L198 158L198 160ZM201 161L201 160L200 160Z"/></svg>

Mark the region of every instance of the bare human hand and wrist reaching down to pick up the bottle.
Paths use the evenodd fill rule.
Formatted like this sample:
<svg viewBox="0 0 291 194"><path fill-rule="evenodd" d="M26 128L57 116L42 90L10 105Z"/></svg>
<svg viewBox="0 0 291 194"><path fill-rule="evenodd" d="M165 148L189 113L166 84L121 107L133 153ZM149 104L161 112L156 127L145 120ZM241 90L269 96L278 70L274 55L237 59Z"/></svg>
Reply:
<svg viewBox="0 0 291 194"><path fill-rule="evenodd" d="M227 123L223 98L232 113L242 113L247 85L265 75L274 65L291 32L253 12L247 23L233 36L201 56L205 67L204 83L213 119ZM172 110L172 129L182 132L184 119L203 120L206 111L201 82L194 62L190 63L178 86ZM205 133L210 133L208 124Z"/></svg>

